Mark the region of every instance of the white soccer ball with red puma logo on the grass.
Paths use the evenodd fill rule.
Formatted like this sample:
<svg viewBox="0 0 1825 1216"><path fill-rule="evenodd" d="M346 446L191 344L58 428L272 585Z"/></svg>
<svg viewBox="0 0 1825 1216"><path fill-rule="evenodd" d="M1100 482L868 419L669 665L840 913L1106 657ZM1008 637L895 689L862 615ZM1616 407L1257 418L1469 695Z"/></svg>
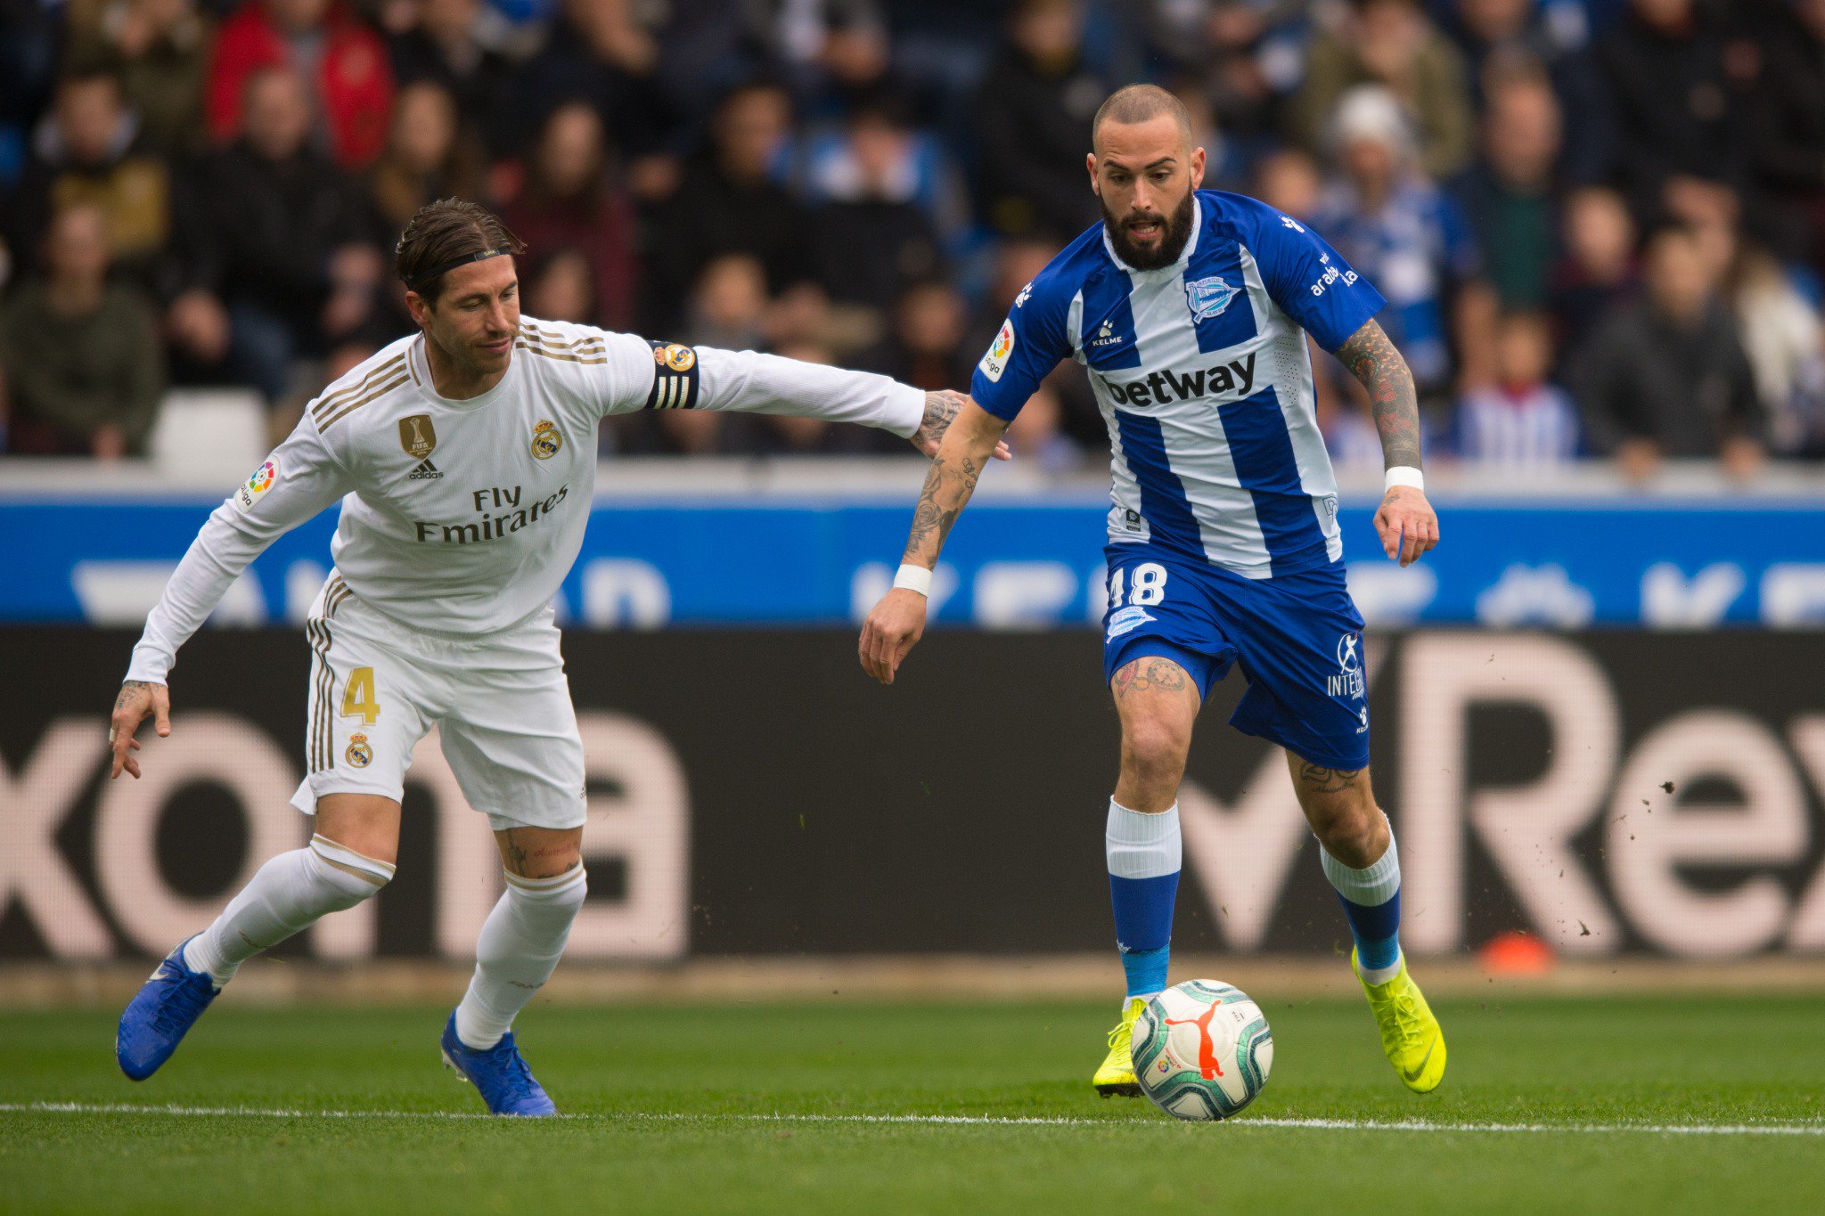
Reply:
<svg viewBox="0 0 1825 1216"><path fill-rule="evenodd" d="M1274 1067L1261 1006L1221 979L1166 988L1135 1017L1135 1081L1181 1119L1226 1119L1254 1101Z"/></svg>

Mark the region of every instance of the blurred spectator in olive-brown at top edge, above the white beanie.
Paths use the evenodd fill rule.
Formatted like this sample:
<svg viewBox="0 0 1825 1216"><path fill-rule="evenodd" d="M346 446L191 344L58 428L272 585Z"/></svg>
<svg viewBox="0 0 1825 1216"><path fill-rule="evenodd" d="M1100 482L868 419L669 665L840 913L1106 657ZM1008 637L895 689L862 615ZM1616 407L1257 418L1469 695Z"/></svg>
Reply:
<svg viewBox="0 0 1825 1216"><path fill-rule="evenodd" d="M1294 100L1298 139L1316 149L1341 98L1363 86L1385 88L1418 133L1418 164L1434 180L1471 157L1473 117L1464 57L1418 0L1349 0L1343 20L1312 38L1305 86Z"/></svg>

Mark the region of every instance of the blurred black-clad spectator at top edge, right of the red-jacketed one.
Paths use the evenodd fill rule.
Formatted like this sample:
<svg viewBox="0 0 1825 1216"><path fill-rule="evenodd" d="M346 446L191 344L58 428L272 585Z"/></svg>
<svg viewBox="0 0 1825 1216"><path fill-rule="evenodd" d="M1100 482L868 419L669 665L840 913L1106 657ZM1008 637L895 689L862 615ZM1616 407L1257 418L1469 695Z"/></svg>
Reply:
<svg viewBox="0 0 1825 1216"><path fill-rule="evenodd" d="M418 20L391 40L400 86L429 80L456 100L462 129L495 155L511 151L513 66L482 38L491 11L482 0L418 0ZM498 22L498 15L493 15Z"/></svg>

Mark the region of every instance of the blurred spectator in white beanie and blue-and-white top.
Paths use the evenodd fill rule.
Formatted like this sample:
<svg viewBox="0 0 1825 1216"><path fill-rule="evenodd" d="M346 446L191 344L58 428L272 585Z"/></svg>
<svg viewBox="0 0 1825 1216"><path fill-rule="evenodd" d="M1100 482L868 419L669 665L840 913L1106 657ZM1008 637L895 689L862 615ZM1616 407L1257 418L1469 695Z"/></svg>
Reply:
<svg viewBox="0 0 1825 1216"><path fill-rule="evenodd" d="M1449 392L1455 374L1486 383L1495 299L1482 257L1456 204L1418 171L1400 102L1380 86L1350 89L1338 106L1336 148L1341 175L1312 224L1387 297L1378 319L1422 397Z"/></svg>

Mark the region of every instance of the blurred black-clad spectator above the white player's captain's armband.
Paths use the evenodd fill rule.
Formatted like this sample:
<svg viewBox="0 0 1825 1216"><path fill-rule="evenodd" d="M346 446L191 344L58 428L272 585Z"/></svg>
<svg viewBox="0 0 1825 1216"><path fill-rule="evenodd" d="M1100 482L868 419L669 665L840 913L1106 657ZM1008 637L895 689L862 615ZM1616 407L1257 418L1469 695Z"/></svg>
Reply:
<svg viewBox="0 0 1825 1216"><path fill-rule="evenodd" d="M748 84L723 98L710 146L692 157L677 193L653 215L646 246L653 332L677 325L697 275L725 253L759 259L768 294L812 277L810 222L772 179L790 122L790 102L777 86Z"/></svg>

